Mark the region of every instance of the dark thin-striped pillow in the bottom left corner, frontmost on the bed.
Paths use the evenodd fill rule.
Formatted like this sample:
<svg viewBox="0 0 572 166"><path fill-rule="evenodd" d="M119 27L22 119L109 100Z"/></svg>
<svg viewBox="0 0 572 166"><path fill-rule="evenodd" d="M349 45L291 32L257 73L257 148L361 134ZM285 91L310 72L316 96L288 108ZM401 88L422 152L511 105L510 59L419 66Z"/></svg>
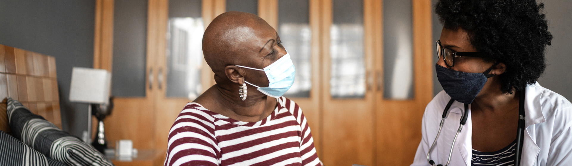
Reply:
<svg viewBox="0 0 572 166"><path fill-rule="evenodd" d="M18 139L0 131L0 165L62 165L35 151Z"/></svg>

